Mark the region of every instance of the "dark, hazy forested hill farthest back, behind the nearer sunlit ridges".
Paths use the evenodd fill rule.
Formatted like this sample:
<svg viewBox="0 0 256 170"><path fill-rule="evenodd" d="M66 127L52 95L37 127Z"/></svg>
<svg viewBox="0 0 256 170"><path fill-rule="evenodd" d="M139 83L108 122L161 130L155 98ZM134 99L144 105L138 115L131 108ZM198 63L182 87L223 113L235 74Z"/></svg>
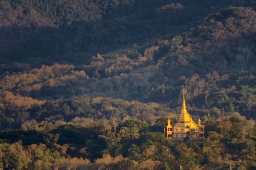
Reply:
<svg viewBox="0 0 256 170"><path fill-rule="evenodd" d="M88 64L97 53L180 34L230 5L255 4L239 0L2 0L0 62L37 67L56 61Z"/></svg>

